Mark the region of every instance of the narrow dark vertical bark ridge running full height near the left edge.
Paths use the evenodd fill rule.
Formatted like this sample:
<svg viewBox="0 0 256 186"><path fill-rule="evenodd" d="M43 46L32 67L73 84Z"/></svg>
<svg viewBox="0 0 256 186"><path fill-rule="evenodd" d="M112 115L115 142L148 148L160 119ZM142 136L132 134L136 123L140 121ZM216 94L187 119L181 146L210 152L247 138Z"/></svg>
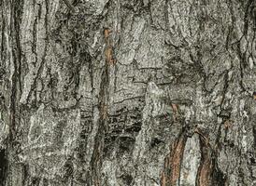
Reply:
<svg viewBox="0 0 256 186"><path fill-rule="evenodd" d="M18 140L18 127L21 123L21 111L19 110L19 98L21 96L21 16L23 1L13 0L10 2L10 36L11 56L13 73L11 77L10 99L9 99L9 133L7 144L7 184L12 184L12 166L16 159L17 152L20 152L21 144Z"/></svg>

